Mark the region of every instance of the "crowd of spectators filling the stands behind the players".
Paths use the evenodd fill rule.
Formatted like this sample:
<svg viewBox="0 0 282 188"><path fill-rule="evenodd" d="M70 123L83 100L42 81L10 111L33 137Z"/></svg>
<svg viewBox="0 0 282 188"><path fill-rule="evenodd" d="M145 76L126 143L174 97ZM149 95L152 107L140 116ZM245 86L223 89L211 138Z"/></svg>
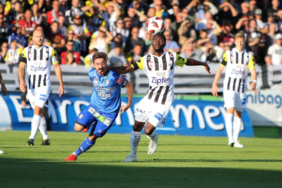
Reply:
<svg viewBox="0 0 282 188"><path fill-rule="evenodd" d="M0 0L0 63L17 64L32 45L35 29L45 34L60 64L91 66L91 55L108 54L126 66L151 53L152 16L162 17L165 50L203 62L221 62L244 33L255 62L281 65L282 9L279 0Z"/></svg>

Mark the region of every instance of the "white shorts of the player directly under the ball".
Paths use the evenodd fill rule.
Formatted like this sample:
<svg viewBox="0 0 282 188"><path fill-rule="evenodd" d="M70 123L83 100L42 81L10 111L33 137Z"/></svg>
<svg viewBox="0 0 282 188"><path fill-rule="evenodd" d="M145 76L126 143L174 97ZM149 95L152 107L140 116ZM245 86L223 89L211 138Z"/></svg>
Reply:
<svg viewBox="0 0 282 188"><path fill-rule="evenodd" d="M135 120L139 122L150 122L154 127L163 127L169 112L170 105L161 105L148 98L143 98L138 103Z"/></svg>

